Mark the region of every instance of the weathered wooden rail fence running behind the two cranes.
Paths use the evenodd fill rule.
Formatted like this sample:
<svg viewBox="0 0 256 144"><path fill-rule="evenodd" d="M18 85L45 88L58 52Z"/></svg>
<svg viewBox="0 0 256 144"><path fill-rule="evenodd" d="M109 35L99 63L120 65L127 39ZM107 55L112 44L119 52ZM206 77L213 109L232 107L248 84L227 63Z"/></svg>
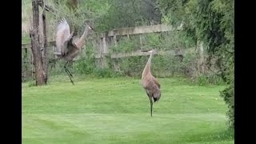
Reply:
<svg viewBox="0 0 256 144"><path fill-rule="evenodd" d="M142 48L142 34L149 34L149 33L161 33L165 31L172 31L172 30L181 30L182 27L179 26L178 28L174 28L173 26L167 25L154 25L154 26L137 26L137 27L127 27L121 29L114 29L110 31L100 32L100 33L92 33L89 34L88 39L94 43L94 46L97 48L97 52L94 57L98 60L98 65L105 67L106 66L106 55L110 56L110 58L125 58L131 56L142 56L142 55L149 55L147 52L142 52L141 50L134 50L132 52L120 52L120 53L109 53L109 46L114 44L114 46L118 45L117 36L118 37L130 37L130 35L138 34L140 39L140 48ZM22 49L25 50L25 54L27 57L26 49L30 48L30 43L22 44ZM54 48L55 41L50 41L47 43L48 48ZM49 51L50 52L50 51ZM48 53L49 53L48 52ZM182 55L181 49L177 50L168 50L168 51L156 51L154 54L172 54L172 55ZM32 57L32 54L30 54ZM55 57L56 58L56 57ZM33 58L31 58L33 59ZM50 58L49 58L50 59ZM31 60L32 63L32 60ZM118 70L118 69L117 69Z"/></svg>

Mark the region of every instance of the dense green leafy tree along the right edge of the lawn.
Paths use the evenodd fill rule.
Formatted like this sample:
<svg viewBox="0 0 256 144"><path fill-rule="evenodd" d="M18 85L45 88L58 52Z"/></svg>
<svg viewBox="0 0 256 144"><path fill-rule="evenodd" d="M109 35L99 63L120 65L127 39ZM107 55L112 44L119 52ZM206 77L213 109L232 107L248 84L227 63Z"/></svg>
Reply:
<svg viewBox="0 0 256 144"><path fill-rule="evenodd" d="M162 22L178 26L183 22L186 37L204 42L228 86L221 96L229 107L234 128L234 0L158 0Z"/></svg>

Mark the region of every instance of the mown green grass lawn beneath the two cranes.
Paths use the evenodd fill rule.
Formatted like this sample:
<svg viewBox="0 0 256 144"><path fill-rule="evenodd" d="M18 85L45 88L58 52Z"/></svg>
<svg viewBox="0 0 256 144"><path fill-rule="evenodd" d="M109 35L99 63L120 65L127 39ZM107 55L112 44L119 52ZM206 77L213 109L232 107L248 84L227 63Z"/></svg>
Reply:
<svg viewBox="0 0 256 144"><path fill-rule="evenodd" d="M22 143L234 143L218 96L224 86L158 80L153 118L139 79L75 78L72 86L64 75L47 86L22 83Z"/></svg>

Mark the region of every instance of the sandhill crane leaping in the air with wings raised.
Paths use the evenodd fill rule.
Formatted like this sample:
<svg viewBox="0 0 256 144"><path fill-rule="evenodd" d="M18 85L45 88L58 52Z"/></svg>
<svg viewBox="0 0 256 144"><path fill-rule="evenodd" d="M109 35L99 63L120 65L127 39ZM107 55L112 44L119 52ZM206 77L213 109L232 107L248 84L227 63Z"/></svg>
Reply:
<svg viewBox="0 0 256 144"><path fill-rule="evenodd" d="M64 58L67 61L64 68L66 70L66 74L68 74L68 76L70 77L70 81L73 85L73 75L70 73L70 70L66 68L66 65L78 55L79 50L85 44L85 38L89 33L89 30L94 29L90 25L86 25L86 28L81 38L74 38L74 31L70 34L70 26L66 22L66 19L62 18L62 20L58 22L58 26L56 29L57 52L55 52L54 54L56 54L58 58Z"/></svg>

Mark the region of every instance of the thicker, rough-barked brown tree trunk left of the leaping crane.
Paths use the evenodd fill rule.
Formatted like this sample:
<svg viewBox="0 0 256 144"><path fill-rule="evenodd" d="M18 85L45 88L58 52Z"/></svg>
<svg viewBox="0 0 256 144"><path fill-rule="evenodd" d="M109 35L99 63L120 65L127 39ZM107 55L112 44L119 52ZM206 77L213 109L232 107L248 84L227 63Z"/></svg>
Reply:
<svg viewBox="0 0 256 144"><path fill-rule="evenodd" d="M30 31L31 36L31 50L34 57L34 67L35 67L35 79L36 86L41 86L46 84L45 72L43 71L42 65L42 55L40 52L39 45L39 9L38 0L32 0L32 13L33 13L33 30Z"/></svg>

